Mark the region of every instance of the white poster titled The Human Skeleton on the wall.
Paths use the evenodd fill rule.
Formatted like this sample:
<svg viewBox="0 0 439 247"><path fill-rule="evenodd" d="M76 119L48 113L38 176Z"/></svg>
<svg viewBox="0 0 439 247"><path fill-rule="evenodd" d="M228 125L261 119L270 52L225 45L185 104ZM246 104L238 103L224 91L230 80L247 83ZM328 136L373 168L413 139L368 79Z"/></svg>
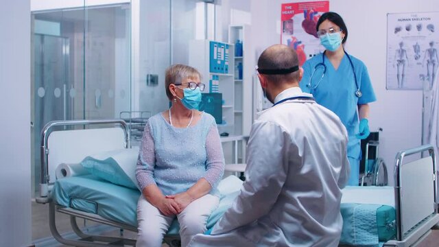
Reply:
<svg viewBox="0 0 439 247"><path fill-rule="evenodd" d="M388 14L386 64L386 89L431 89L438 76L439 12Z"/></svg>

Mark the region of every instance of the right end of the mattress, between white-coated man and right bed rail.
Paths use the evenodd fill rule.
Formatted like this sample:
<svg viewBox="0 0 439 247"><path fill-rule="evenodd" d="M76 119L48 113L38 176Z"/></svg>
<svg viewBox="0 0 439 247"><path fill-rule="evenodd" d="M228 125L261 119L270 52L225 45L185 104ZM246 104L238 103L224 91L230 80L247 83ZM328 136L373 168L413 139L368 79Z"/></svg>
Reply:
<svg viewBox="0 0 439 247"><path fill-rule="evenodd" d="M396 234L393 187L346 187L340 244L374 246Z"/></svg>

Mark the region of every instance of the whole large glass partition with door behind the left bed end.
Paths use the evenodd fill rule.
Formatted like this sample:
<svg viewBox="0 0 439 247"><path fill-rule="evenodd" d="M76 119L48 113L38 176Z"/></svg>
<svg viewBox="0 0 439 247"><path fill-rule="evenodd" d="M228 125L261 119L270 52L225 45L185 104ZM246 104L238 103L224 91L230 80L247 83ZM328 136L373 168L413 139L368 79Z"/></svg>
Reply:
<svg viewBox="0 0 439 247"><path fill-rule="evenodd" d="M115 119L131 110L130 3L32 12L32 167L49 121Z"/></svg>

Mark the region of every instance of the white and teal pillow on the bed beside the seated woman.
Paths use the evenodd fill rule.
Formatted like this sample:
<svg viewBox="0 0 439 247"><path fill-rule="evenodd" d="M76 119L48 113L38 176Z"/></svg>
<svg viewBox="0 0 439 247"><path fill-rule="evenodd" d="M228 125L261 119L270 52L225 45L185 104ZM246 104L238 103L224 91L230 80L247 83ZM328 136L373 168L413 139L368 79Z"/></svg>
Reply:
<svg viewBox="0 0 439 247"><path fill-rule="evenodd" d="M132 189L137 189L136 165L139 148L123 148L86 156L81 165L91 174Z"/></svg>

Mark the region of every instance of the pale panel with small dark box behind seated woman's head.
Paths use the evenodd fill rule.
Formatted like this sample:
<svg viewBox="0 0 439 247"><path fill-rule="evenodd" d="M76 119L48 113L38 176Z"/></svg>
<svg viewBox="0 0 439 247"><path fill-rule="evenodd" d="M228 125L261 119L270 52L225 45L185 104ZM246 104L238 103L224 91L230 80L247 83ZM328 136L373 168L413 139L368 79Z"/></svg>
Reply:
<svg viewBox="0 0 439 247"><path fill-rule="evenodd" d="M170 64L171 1L139 1L133 10L132 145L140 145L147 118L168 107L165 69Z"/></svg>

